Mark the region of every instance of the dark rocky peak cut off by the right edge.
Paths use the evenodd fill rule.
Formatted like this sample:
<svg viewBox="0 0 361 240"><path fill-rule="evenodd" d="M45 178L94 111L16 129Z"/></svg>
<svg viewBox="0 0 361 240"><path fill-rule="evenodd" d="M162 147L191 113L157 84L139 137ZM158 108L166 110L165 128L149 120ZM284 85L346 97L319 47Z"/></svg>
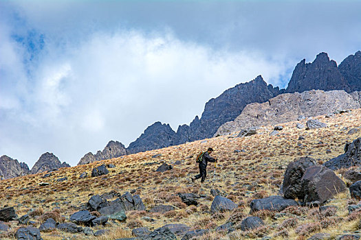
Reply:
<svg viewBox="0 0 361 240"><path fill-rule="evenodd" d="M361 51L345 58L338 66L338 70L349 85L350 92L361 91Z"/></svg>

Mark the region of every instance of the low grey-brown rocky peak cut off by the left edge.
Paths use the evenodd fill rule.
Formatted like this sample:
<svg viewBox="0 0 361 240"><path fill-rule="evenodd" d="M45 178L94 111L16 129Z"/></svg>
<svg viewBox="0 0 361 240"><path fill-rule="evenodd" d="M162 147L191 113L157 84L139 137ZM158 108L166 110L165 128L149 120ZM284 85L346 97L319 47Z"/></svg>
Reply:
<svg viewBox="0 0 361 240"><path fill-rule="evenodd" d="M16 178L29 174L29 167L26 163L19 163L6 155L0 157L0 178Z"/></svg>

